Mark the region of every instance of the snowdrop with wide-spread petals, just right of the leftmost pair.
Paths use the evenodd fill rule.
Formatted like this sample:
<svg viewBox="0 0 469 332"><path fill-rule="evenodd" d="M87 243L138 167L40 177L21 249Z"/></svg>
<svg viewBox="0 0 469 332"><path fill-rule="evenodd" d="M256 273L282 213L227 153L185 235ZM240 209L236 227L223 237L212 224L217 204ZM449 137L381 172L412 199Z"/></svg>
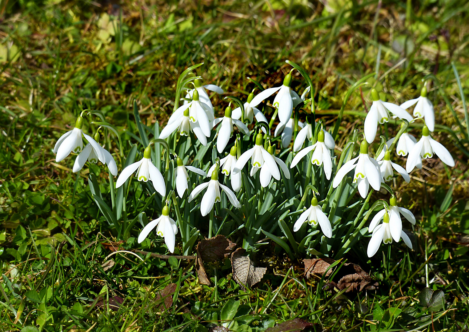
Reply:
<svg viewBox="0 0 469 332"><path fill-rule="evenodd" d="M130 164L124 168L121 172L121 175L117 178L116 188L119 188L124 182L135 172L136 178L138 181L147 182L151 180L155 190L161 195L165 196L166 194L166 185L163 179L163 176L156 168L155 165L151 162L151 148L150 146L145 148L144 157L138 161Z"/></svg>

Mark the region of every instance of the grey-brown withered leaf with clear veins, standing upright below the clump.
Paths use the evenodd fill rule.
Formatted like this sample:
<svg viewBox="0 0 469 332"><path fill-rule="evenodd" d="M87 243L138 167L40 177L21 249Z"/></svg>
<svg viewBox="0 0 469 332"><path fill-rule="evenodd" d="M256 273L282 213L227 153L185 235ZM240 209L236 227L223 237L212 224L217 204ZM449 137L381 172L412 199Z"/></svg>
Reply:
<svg viewBox="0 0 469 332"><path fill-rule="evenodd" d="M249 256L242 256L245 249L238 248L231 255L231 267L233 268L234 280L246 290L244 285L251 287L264 277L267 268L256 267Z"/></svg>

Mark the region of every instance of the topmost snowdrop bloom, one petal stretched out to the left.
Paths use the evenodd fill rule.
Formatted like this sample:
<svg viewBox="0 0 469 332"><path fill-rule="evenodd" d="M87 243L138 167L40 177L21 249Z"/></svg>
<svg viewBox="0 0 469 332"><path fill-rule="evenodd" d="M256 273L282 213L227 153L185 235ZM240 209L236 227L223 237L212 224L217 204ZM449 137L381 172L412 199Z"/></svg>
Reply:
<svg viewBox="0 0 469 332"><path fill-rule="evenodd" d="M292 75L287 74L283 80L283 85L277 88L265 89L255 96L251 103L251 107L256 107L261 103L265 98L272 96L275 92L279 91L277 96L273 100L273 107L279 109L279 119L281 123L287 123L288 119L291 118L293 112L293 96L298 96L296 93L292 96L292 90L290 89L290 84L292 81Z"/></svg>

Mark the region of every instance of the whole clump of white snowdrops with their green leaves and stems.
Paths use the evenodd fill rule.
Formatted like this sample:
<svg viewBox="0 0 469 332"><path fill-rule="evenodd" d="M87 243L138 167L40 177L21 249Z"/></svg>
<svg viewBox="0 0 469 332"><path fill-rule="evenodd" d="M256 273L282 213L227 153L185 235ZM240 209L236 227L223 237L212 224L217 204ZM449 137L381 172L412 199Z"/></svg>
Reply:
<svg viewBox="0 0 469 332"><path fill-rule="evenodd" d="M283 84L264 89L253 81L256 88L245 101L224 98L227 104L220 118L215 118L209 93L225 92L204 85L201 77L192 74L200 64L189 67L178 79L174 109L162 130L158 121L153 128L144 125L134 103L139 136L126 132L136 144L120 171L99 138L100 131L105 132L108 146L112 137L117 138L122 155L122 133L98 111L83 111L75 128L61 136L53 150L56 160L77 154L74 172L86 161L106 164L111 206L94 175L89 177L89 186L116 237L128 239L139 231L138 243L154 239L156 245L162 245L159 239L164 238L171 253L178 247L183 254L190 253L201 230L209 237L233 236L250 251L270 238L292 258L302 254L340 258L367 233L372 233L369 257L381 243L401 239L412 249L409 231L404 229L409 227L407 222L415 225L415 217L398 206L398 197L386 182L394 177L411 181L409 173L422 168L423 160L433 154L454 166L448 150L431 138L435 119L426 88L418 98L401 105L380 100L372 89L363 133L350 133L339 149L334 141L343 108L370 75L348 90L338 120L327 128L316 118L310 77L300 66L287 63L292 70L283 77ZM301 96L291 88L295 71L304 78ZM408 108L414 104L411 114ZM269 120L263 111L266 105L274 109ZM83 132L83 114L101 120L91 122L99 126L92 136ZM391 117L401 120L396 137L377 138L378 127ZM424 123L421 132L408 132L413 121ZM414 134L420 136L418 141ZM88 142L84 148L83 137ZM405 165L399 165L398 156L407 156ZM388 198L370 202L372 193L382 188ZM145 202L143 207L135 203L136 198ZM156 211L150 219L147 209Z"/></svg>

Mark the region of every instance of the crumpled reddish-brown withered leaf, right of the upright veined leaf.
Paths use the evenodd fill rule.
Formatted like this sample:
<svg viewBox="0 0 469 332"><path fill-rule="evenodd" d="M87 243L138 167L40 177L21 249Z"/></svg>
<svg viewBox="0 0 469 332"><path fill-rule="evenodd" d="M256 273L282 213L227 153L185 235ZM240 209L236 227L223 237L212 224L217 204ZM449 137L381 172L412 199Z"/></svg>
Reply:
<svg viewBox="0 0 469 332"><path fill-rule="evenodd" d="M335 262L331 258L313 258L303 259L304 262L304 273L306 278L309 279L312 274L323 275L327 268ZM332 273L332 270L327 271L326 277ZM378 286L378 282L374 282L370 275L363 271L363 269L353 263L345 263L336 274L337 278L340 278L337 283L331 282L336 285L339 289L345 289L346 293L363 289L374 290Z"/></svg>

